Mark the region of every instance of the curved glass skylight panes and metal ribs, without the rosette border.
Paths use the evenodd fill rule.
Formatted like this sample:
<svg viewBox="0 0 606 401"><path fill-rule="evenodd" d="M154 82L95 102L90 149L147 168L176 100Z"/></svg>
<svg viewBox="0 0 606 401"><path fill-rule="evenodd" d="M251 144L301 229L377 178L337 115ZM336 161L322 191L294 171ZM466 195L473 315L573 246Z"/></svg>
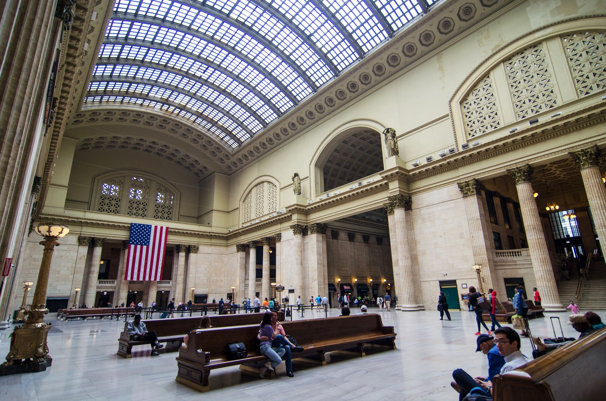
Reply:
<svg viewBox="0 0 606 401"><path fill-rule="evenodd" d="M235 149L438 1L116 0L84 103L175 114Z"/></svg>

